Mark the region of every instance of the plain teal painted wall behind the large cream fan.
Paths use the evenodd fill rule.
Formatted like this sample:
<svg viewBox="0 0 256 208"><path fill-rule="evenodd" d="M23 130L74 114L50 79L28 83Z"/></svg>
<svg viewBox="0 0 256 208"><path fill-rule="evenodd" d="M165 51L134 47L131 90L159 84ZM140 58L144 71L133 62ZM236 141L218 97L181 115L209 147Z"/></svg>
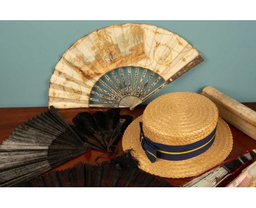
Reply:
<svg viewBox="0 0 256 208"><path fill-rule="evenodd" d="M0 21L0 107L47 106L62 53L92 30L127 22L171 30L205 58L148 101L212 85L240 102L256 102L256 21Z"/></svg>

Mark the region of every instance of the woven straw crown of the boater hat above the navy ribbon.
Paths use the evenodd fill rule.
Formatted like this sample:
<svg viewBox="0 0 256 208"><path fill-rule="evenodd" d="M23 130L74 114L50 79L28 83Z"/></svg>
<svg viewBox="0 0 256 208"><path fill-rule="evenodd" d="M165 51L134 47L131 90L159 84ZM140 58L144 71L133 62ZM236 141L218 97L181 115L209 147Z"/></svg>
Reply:
<svg viewBox="0 0 256 208"><path fill-rule="evenodd" d="M150 102L142 120L144 134L153 142L185 145L205 138L214 130L218 108L200 94L169 93Z"/></svg>

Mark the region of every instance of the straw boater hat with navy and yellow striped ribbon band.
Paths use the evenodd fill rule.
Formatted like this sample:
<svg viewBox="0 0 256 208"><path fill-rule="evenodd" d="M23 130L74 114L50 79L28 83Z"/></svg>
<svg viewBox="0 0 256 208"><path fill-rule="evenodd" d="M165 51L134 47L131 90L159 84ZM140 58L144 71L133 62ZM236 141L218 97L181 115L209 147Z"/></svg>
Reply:
<svg viewBox="0 0 256 208"><path fill-rule="evenodd" d="M207 97L165 94L126 129L123 149L133 149L142 170L167 178L195 176L230 154L232 134Z"/></svg>

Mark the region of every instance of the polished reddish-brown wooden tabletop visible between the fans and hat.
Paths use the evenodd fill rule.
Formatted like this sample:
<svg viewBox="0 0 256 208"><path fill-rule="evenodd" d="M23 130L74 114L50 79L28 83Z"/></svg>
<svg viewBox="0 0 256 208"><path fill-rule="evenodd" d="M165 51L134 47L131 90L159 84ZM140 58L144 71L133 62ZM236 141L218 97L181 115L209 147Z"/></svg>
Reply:
<svg viewBox="0 0 256 208"><path fill-rule="evenodd" d="M256 103L244 103L249 108L252 108L256 111ZM142 115L145 105L137 106L133 111L129 111L128 108L122 108L121 114L130 114L133 118L137 118L139 115ZM76 109L60 109L58 112L65 118L69 124L72 124L72 119L79 112L87 111L90 113L94 113L95 111L106 111L108 108L76 108ZM7 139L11 132L15 129L16 126L21 125L26 122L28 119L34 117L37 114L43 113L47 111L48 107L24 107L24 108L0 108L0 144L2 144L3 140ZM237 155L243 154L245 151L251 151L252 149L256 149L256 140L247 136L245 133L237 130L235 127L230 126L234 144L233 149L228 156L227 159L235 157ZM121 141L118 143L119 146L119 154L123 152L121 148ZM80 155L72 160L62 164L59 167L54 168L55 170L63 170L69 167L73 167L74 164L78 162L86 162L95 164L95 158L101 155L102 151L91 150L86 152L83 155ZM109 160L108 156L103 157L101 160ZM174 186L179 186L185 179L167 179L168 182L171 182Z"/></svg>

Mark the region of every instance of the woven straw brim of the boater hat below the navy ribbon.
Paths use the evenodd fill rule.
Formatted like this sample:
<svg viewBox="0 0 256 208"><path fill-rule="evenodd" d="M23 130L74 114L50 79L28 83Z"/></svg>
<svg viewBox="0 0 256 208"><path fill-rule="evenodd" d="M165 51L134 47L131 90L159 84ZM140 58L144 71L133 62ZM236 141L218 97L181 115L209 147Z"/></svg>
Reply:
<svg viewBox="0 0 256 208"><path fill-rule="evenodd" d="M232 134L228 124L222 118L218 118L217 132L211 148L203 154L183 161L168 161L160 158L152 163L146 156L139 142L139 122L142 116L138 117L127 127L123 136L123 149L133 149L133 155L139 160L139 168L150 174L166 178L186 178L200 173L223 162L232 150Z"/></svg>

